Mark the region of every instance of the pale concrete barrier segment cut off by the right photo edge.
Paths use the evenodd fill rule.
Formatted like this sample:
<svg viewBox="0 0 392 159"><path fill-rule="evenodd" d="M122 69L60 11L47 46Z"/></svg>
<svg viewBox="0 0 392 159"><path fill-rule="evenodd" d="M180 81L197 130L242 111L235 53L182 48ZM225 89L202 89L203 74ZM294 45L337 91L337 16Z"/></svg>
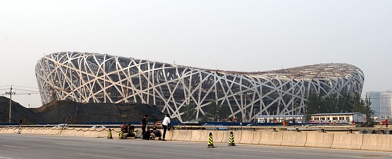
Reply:
<svg viewBox="0 0 392 159"><path fill-rule="evenodd" d="M392 151L392 135L364 134L361 150Z"/></svg>

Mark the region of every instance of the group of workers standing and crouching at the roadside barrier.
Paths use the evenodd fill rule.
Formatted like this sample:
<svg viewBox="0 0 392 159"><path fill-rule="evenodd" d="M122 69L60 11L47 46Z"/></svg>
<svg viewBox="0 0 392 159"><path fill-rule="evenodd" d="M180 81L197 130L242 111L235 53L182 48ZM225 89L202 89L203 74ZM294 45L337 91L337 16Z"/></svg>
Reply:
<svg viewBox="0 0 392 159"><path fill-rule="evenodd" d="M147 117L148 115L145 114L143 116L143 119L141 121L142 124L142 138L143 139L152 139L152 140L162 140L162 141L166 141L165 140L165 136L166 136L166 131L170 130L170 117L169 114L166 114L163 118L162 121L162 127L163 127L163 135L161 137L161 132L159 130L157 130L157 128L154 126L152 128L152 130L149 130L148 132L146 131L147 128Z"/></svg>

